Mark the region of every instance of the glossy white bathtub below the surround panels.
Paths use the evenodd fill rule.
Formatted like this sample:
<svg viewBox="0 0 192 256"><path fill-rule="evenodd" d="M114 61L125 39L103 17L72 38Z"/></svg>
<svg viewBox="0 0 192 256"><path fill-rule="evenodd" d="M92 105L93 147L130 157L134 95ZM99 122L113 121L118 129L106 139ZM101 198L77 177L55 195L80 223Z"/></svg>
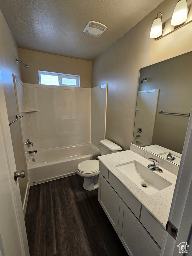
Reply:
<svg viewBox="0 0 192 256"><path fill-rule="evenodd" d="M99 155L100 150L91 143L37 150L37 154L31 155L28 164L30 185L76 174L80 162L97 159Z"/></svg>

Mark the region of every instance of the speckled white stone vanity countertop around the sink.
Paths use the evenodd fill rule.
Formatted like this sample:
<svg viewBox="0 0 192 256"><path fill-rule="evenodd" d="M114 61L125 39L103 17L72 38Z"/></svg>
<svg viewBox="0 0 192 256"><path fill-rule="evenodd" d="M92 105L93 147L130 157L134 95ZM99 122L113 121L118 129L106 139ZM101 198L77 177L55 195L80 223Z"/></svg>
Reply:
<svg viewBox="0 0 192 256"><path fill-rule="evenodd" d="M156 192L153 195L148 196L143 192L135 183L133 183L127 176L125 176L116 165L127 163L130 161L137 161L144 166L151 164L150 160L138 155L137 153L127 150L109 155L99 156L98 159L109 169L122 183L123 185L141 202L142 206L151 213L151 215L166 229L166 223L169 217L169 211L171 207L173 192L177 176L168 170L159 167L163 170L163 173L154 171L157 175L161 176L165 180L172 183L171 186Z"/></svg>

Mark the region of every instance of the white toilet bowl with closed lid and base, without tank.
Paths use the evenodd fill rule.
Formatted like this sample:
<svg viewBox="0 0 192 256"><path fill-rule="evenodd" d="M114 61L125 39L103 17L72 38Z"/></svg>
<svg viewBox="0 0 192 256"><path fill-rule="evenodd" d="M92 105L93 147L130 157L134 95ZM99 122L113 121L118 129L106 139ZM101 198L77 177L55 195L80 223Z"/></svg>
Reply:
<svg viewBox="0 0 192 256"><path fill-rule="evenodd" d="M98 188L99 160L86 160L78 164L77 173L84 178L83 187L86 190Z"/></svg>

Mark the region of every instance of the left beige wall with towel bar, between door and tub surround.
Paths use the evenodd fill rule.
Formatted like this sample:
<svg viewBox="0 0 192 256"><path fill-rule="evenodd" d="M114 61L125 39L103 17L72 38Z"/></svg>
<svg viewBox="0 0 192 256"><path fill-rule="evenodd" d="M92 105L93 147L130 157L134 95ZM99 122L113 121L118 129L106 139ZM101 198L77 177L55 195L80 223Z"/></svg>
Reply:
<svg viewBox="0 0 192 256"><path fill-rule="evenodd" d="M18 58L18 48L15 40L9 30L9 27L0 11L0 69L3 81L3 88L5 93L5 100L7 106L7 112L9 122L15 120L15 114L17 114L17 104L14 91L12 73L20 77L19 65L16 63ZM6 111L6 110L5 110ZM13 150L15 156L15 162L17 172L26 170L25 156L23 153L23 145L20 131L19 121L10 126L11 138L13 143ZM24 202L27 177L25 179L18 179L21 192L21 200Z"/></svg>

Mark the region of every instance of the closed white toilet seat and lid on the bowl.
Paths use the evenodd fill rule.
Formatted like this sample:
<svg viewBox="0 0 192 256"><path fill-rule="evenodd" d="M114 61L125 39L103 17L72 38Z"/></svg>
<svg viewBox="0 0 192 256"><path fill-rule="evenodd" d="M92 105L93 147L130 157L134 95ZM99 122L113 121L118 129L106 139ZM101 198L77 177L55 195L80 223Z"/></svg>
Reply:
<svg viewBox="0 0 192 256"><path fill-rule="evenodd" d="M77 169L81 173L95 173L99 171L99 160L85 160L78 164Z"/></svg>

